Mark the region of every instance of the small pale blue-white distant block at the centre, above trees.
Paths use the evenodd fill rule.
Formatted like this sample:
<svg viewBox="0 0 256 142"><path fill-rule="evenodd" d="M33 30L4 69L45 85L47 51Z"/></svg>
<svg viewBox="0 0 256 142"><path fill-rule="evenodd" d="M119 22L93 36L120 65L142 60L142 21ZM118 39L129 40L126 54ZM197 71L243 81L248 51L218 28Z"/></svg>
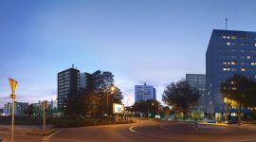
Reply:
<svg viewBox="0 0 256 142"><path fill-rule="evenodd" d="M155 99L155 88L153 85L135 85L135 101Z"/></svg>

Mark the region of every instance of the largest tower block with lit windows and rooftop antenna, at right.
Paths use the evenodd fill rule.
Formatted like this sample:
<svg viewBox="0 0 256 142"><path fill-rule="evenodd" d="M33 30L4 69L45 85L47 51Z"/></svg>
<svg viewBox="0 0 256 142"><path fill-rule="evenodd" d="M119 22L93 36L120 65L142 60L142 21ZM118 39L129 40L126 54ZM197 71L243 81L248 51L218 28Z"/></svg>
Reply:
<svg viewBox="0 0 256 142"><path fill-rule="evenodd" d="M206 53L209 113L224 110L220 83L236 73L256 79L256 32L213 29Z"/></svg>

